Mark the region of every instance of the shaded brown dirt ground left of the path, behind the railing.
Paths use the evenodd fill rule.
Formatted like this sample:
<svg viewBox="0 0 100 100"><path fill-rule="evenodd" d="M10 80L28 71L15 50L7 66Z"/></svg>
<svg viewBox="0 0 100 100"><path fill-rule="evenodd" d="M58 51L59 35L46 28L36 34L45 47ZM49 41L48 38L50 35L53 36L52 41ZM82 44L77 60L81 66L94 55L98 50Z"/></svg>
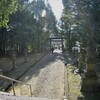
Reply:
<svg viewBox="0 0 100 100"><path fill-rule="evenodd" d="M24 56L17 57L17 70L12 70L11 59L0 58L0 69L3 70L3 75L13 79L19 79L27 70L29 70L36 62L43 58L46 53L35 53L27 56L27 62L24 61ZM0 78L0 90L5 90L11 84L10 81Z"/></svg>

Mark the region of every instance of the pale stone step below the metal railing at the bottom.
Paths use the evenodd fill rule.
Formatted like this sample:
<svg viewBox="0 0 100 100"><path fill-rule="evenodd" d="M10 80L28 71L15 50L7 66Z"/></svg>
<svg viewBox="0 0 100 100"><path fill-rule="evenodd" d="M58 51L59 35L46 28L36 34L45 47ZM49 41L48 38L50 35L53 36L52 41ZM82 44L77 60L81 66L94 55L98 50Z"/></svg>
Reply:
<svg viewBox="0 0 100 100"><path fill-rule="evenodd" d="M0 100L58 100L58 99L47 99L47 98L37 98L28 96L14 96L13 94L0 92Z"/></svg>

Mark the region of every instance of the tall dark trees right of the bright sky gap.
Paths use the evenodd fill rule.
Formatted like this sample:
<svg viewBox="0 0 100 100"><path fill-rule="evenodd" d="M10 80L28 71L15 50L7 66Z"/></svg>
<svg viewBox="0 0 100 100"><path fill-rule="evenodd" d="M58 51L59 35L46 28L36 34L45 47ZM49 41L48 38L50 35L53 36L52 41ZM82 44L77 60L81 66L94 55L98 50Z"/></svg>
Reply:
<svg viewBox="0 0 100 100"><path fill-rule="evenodd" d="M62 21L64 32L69 39L68 45L70 46L75 39L81 42L82 46L89 47L92 44L92 48L96 48L100 40L98 38L100 36L100 1L63 0L63 3Z"/></svg>

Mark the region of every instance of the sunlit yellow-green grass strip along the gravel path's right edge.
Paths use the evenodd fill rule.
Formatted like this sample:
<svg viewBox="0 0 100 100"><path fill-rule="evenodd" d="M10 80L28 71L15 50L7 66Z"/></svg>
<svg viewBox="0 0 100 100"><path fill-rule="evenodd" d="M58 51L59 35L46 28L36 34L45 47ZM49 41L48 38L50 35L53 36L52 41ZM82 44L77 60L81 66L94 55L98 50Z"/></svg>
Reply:
<svg viewBox="0 0 100 100"><path fill-rule="evenodd" d="M69 100L77 100L78 97L82 96L82 93L80 92L81 86L81 77L80 75L75 75L73 73L74 67L69 65L67 67L67 73L68 73L68 83L69 83L69 88L68 88L68 94L69 94Z"/></svg>

